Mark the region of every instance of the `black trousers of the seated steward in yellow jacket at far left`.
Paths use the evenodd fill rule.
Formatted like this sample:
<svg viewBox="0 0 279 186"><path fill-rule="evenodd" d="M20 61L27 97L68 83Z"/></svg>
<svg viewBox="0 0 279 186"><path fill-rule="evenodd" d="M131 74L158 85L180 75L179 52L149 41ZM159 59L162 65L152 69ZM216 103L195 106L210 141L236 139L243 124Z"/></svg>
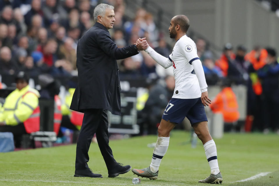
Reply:
<svg viewBox="0 0 279 186"><path fill-rule="evenodd" d="M12 133L14 135L15 147L17 148L21 146L22 135L27 134L23 123L19 123L15 126L11 126L11 125L0 126L0 132Z"/></svg>

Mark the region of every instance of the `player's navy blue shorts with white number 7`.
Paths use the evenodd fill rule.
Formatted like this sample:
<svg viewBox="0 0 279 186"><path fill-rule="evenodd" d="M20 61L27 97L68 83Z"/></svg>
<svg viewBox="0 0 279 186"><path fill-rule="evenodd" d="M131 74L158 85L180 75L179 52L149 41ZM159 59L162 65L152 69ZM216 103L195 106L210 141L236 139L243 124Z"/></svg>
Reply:
<svg viewBox="0 0 279 186"><path fill-rule="evenodd" d="M208 121L201 98L171 98L162 119L179 124L185 117L189 119L191 126L201 121Z"/></svg>

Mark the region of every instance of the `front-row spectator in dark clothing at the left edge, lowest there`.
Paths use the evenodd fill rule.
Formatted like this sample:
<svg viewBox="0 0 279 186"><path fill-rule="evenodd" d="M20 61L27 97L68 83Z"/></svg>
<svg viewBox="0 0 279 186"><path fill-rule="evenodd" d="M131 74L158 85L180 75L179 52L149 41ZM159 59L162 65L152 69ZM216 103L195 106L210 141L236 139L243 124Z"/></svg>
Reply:
<svg viewBox="0 0 279 186"><path fill-rule="evenodd" d="M14 75L18 71L17 65L12 60L11 50L8 47L0 49L0 74Z"/></svg>

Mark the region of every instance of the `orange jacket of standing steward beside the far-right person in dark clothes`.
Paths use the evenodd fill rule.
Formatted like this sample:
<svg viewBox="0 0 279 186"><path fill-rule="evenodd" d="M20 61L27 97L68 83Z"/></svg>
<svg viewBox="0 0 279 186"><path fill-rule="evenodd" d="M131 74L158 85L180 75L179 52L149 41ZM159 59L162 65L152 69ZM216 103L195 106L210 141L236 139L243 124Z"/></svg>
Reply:
<svg viewBox="0 0 279 186"><path fill-rule="evenodd" d="M254 69L258 70L265 65L265 58L267 58L267 50L262 49L259 58L255 58L255 54L256 51L252 50L251 52L245 55L245 60L251 62Z"/></svg>

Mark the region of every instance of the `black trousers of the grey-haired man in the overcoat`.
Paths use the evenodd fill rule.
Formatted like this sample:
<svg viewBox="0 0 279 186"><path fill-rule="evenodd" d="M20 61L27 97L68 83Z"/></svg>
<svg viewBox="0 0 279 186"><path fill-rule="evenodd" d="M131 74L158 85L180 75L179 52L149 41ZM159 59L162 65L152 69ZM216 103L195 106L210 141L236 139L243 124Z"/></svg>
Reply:
<svg viewBox="0 0 279 186"><path fill-rule="evenodd" d="M76 144L76 170L88 168L88 150L92 137L96 133L99 149L108 170L117 163L112 155L108 138L108 115L104 109L84 110L84 117Z"/></svg>

